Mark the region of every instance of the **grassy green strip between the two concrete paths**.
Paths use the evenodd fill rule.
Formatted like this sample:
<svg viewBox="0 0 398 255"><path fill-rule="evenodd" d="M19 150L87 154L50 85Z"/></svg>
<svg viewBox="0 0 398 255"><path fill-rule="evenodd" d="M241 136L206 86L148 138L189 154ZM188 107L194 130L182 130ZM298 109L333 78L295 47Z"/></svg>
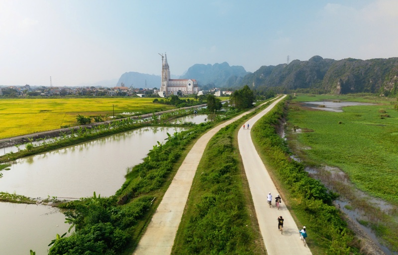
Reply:
<svg viewBox="0 0 398 255"><path fill-rule="evenodd" d="M172 254L265 254L236 149L240 125L222 128L209 141Z"/></svg>

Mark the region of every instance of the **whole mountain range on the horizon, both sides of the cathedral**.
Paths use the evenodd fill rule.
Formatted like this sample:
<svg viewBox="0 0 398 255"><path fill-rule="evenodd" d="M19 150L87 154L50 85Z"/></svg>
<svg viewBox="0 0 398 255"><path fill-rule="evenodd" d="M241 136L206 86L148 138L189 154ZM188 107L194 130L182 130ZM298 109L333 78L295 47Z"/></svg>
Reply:
<svg viewBox="0 0 398 255"><path fill-rule="evenodd" d="M174 76L173 78L177 78ZM276 92L291 90L307 93L398 93L398 58L332 60L314 56L308 61L294 60L289 64L261 66L247 72L243 66L222 64L194 64L181 79L196 79L204 88L242 87ZM119 78L126 87L160 86L160 75L125 72Z"/></svg>

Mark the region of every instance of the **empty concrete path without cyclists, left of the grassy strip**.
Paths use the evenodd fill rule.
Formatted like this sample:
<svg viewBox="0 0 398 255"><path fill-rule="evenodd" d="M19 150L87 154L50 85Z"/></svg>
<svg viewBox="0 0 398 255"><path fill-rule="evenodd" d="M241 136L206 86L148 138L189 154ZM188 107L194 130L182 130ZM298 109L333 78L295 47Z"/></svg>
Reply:
<svg viewBox="0 0 398 255"><path fill-rule="evenodd" d="M221 128L252 111L254 109L212 128L198 139L163 196L151 222L135 249L135 255L169 255L171 253L177 229L181 222L185 204L187 203L188 194L208 141Z"/></svg>

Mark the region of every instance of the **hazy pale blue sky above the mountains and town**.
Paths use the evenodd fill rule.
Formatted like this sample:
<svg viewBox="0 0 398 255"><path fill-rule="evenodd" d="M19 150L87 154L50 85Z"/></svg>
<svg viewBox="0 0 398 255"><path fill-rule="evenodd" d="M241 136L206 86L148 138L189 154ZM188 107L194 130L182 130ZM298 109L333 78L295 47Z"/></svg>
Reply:
<svg viewBox="0 0 398 255"><path fill-rule="evenodd" d="M0 0L0 85L398 57L398 0Z"/></svg>

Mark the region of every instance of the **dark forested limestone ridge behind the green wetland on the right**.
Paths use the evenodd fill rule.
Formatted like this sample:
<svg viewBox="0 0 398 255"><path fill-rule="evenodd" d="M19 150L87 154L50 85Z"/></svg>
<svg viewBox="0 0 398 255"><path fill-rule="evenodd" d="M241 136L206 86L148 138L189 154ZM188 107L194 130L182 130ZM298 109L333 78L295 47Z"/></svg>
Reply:
<svg viewBox="0 0 398 255"><path fill-rule="evenodd" d="M332 60L314 56L308 61L261 66L231 86L277 91L301 90L333 94L398 92L398 58Z"/></svg>

